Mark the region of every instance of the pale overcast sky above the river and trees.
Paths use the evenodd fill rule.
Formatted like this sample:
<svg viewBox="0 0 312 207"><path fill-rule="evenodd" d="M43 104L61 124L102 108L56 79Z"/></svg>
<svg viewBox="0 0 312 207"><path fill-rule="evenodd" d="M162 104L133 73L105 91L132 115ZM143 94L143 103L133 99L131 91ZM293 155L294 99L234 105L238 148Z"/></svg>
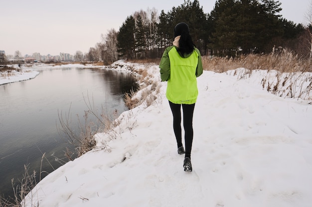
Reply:
<svg viewBox="0 0 312 207"><path fill-rule="evenodd" d="M193 0L191 0L193 1ZM0 50L22 56L86 53L101 41L101 34L119 30L127 16L141 9L167 12L184 0L2 0L0 3ZM311 0L280 0L280 14L306 24ZM215 0L199 0L205 13Z"/></svg>

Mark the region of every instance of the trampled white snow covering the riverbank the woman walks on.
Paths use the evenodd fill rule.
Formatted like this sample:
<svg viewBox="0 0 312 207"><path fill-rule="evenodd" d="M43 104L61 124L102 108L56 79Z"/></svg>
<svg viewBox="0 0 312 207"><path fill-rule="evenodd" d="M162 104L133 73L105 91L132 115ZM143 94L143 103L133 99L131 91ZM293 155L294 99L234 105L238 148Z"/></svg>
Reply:
<svg viewBox="0 0 312 207"><path fill-rule="evenodd" d="M144 67L119 62L115 69L127 65ZM204 71L197 78L193 172L186 173L166 82L157 66L147 70L158 83L153 104L122 113L116 128L96 135L94 150L40 181L24 207L311 206L310 94L304 100L268 92L262 80L269 71Z"/></svg>

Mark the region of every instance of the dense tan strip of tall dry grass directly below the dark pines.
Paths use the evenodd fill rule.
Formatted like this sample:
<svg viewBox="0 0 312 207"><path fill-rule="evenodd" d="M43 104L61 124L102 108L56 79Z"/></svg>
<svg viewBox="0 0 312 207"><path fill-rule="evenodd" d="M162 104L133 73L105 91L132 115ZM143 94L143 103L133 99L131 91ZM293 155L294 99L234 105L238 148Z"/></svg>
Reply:
<svg viewBox="0 0 312 207"><path fill-rule="evenodd" d="M289 50L279 54L256 55L248 54L237 58L202 57L203 68L215 72L225 72L231 69L266 69L280 72L312 72L311 62L302 59Z"/></svg>

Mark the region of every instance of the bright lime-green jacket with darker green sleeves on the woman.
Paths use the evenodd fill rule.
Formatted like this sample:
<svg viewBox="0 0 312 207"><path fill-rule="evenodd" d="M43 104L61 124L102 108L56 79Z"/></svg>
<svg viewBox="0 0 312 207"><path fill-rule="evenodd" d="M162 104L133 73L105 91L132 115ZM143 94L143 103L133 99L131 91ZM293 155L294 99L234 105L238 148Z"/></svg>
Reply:
<svg viewBox="0 0 312 207"><path fill-rule="evenodd" d="M175 104L193 104L197 100L198 89L196 77L202 74L200 52L194 48L184 58L175 46L165 49L159 68L161 81L168 81L166 97Z"/></svg>

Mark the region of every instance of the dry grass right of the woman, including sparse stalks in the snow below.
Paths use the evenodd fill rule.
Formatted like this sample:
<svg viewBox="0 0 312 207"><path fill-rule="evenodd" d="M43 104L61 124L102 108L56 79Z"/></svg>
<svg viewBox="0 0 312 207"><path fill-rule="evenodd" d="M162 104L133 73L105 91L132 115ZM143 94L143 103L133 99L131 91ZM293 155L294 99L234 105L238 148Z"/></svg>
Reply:
<svg viewBox="0 0 312 207"><path fill-rule="evenodd" d="M203 68L215 72L229 72L239 79L249 78L254 70L262 70L262 88L280 97L310 100L312 65L288 50L278 54L249 54L238 58L202 57ZM242 69L243 68L243 69Z"/></svg>

